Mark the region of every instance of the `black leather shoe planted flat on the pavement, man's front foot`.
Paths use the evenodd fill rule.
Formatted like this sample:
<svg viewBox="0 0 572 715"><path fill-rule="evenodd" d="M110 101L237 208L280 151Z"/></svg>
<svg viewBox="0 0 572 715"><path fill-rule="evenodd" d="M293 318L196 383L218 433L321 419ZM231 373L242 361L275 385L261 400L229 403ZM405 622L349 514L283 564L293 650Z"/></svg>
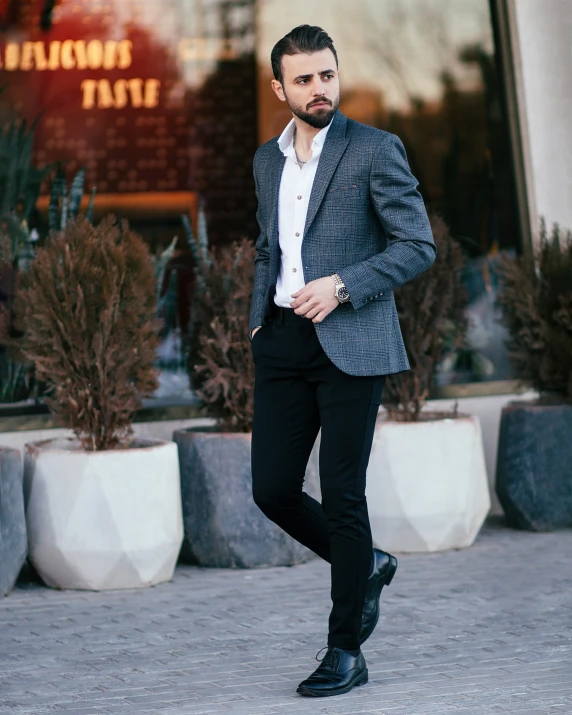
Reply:
<svg viewBox="0 0 572 715"><path fill-rule="evenodd" d="M341 648L328 648L318 668L300 683L296 692L313 698L325 698L342 695L354 685L366 683L367 668L362 653L353 656Z"/></svg>

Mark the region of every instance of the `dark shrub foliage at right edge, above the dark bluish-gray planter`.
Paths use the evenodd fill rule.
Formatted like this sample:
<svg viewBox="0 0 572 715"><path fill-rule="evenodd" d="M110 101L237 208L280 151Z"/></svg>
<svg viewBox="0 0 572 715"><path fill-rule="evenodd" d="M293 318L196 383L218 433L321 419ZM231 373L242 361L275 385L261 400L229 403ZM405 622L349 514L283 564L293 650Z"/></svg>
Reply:
<svg viewBox="0 0 572 715"><path fill-rule="evenodd" d="M543 396L572 401L572 232L541 221L531 256L503 257L498 301L516 376Z"/></svg>

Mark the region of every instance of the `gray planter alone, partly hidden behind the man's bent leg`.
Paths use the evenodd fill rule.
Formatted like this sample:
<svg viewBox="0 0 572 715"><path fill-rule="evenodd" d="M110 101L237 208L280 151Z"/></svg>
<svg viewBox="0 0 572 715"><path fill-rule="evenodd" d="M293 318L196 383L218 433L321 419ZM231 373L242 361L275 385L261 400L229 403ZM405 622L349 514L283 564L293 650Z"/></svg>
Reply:
<svg viewBox="0 0 572 715"><path fill-rule="evenodd" d="M251 435L177 430L184 539L181 558L201 566L289 566L312 552L273 524L252 499ZM306 475L316 495L317 450Z"/></svg>

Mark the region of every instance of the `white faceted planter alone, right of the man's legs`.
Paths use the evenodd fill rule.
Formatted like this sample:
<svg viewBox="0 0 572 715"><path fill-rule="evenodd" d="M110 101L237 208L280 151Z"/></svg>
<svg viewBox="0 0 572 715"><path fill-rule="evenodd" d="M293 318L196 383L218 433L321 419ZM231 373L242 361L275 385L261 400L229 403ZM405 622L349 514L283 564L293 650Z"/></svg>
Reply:
<svg viewBox="0 0 572 715"><path fill-rule="evenodd" d="M374 546L384 551L472 544L490 509L478 418L378 419L366 494Z"/></svg>

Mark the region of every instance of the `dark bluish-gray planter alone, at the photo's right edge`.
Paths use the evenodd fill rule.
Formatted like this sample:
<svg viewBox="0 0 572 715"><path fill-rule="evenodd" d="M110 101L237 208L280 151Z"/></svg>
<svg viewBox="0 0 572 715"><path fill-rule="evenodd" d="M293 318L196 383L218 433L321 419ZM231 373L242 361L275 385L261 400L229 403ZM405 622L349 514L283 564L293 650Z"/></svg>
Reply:
<svg viewBox="0 0 572 715"><path fill-rule="evenodd" d="M503 409L496 492L511 526L572 527L572 405Z"/></svg>

